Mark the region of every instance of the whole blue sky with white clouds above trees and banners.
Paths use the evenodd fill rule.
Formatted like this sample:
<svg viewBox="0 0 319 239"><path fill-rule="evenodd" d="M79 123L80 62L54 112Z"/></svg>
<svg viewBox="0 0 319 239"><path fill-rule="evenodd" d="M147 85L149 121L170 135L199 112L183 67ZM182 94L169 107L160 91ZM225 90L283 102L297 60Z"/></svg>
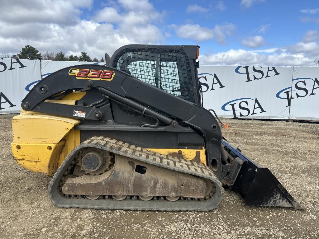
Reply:
<svg viewBox="0 0 319 239"><path fill-rule="evenodd" d="M2 8L0 52L8 54L30 44L100 58L139 43L199 45L202 65L311 66L319 58L319 1L31 0Z"/></svg>

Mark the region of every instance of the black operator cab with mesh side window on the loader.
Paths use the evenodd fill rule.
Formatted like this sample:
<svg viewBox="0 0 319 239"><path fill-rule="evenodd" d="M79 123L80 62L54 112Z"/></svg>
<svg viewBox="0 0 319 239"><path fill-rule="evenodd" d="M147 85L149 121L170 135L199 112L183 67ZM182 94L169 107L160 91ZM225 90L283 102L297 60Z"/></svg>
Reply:
<svg viewBox="0 0 319 239"><path fill-rule="evenodd" d="M199 46L126 45L109 66L184 100L202 106L197 68Z"/></svg>

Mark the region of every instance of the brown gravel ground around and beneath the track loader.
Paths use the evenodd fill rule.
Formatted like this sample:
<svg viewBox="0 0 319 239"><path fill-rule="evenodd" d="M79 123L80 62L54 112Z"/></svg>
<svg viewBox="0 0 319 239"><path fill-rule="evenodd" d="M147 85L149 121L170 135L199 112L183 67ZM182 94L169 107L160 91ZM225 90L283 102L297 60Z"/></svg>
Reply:
<svg viewBox="0 0 319 239"><path fill-rule="evenodd" d="M226 189L213 211L175 213L57 208L51 178L14 161L12 117L0 115L0 238L319 238L319 124L224 119L226 139L307 210L246 206Z"/></svg>

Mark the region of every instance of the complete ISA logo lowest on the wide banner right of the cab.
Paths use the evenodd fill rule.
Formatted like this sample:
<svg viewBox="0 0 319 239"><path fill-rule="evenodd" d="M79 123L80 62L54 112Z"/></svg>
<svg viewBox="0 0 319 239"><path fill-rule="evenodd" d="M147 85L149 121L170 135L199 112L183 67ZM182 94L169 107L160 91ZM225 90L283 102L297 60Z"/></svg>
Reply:
<svg viewBox="0 0 319 239"><path fill-rule="evenodd" d="M266 112L257 98L239 98L226 102L221 109L233 112L234 118Z"/></svg>

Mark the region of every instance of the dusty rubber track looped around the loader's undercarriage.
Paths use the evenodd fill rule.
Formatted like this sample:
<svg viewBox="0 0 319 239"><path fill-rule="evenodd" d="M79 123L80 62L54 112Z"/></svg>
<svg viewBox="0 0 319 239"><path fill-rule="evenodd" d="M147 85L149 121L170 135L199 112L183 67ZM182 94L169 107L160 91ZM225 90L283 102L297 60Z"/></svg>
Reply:
<svg viewBox="0 0 319 239"><path fill-rule="evenodd" d="M72 163L75 156L82 148L100 148L115 154L126 156L144 163L163 167L170 170L191 174L197 177L207 178L212 181L216 190L211 198L205 200L178 200L170 202L166 200L142 201L139 199L124 199L117 201L114 199L90 200L83 197L65 197L61 194L59 182L63 174ZM74 162L74 161L73 161ZM122 210L159 210L159 211L209 211L216 208L222 198L224 189L214 175L214 173L204 164L179 159L177 157L154 153L144 148L140 148L122 141L110 139L103 136L94 136L75 147L66 157L59 169L53 176L48 187L49 197L58 207L78 207L92 209L122 209Z"/></svg>

